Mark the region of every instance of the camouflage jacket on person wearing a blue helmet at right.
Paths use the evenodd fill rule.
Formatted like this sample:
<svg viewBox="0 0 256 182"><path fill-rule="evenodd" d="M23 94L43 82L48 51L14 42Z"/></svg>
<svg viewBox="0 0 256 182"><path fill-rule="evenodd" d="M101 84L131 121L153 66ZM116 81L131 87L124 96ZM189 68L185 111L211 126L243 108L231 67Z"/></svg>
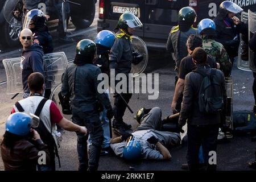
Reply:
<svg viewBox="0 0 256 182"><path fill-rule="evenodd" d="M226 52L224 46L213 39L203 37L203 48L209 55L213 57L216 63L220 63L220 69L224 73L224 76L230 76L232 71L232 63L230 62L228 53Z"/></svg>

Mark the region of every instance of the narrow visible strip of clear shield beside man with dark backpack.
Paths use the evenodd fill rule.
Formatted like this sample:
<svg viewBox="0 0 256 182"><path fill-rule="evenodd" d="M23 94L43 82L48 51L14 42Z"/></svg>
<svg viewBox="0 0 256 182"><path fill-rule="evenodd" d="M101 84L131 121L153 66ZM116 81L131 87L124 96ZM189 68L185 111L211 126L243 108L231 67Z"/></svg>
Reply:
<svg viewBox="0 0 256 182"><path fill-rule="evenodd" d="M229 126L230 129L233 129L233 79L232 77L225 77L226 82L226 126Z"/></svg>

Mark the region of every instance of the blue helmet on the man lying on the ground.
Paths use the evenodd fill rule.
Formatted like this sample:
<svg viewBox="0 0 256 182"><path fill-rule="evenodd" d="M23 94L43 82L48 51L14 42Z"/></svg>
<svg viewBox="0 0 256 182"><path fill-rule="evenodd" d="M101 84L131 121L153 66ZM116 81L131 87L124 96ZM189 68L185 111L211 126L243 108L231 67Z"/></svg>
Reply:
<svg viewBox="0 0 256 182"><path fill-rule="evenodd" d="M123 148L123 158L126 160L137 160L141 158L142 147L138 141L135 140L135 137L129 137L128 143L125 148Z"/></svg>

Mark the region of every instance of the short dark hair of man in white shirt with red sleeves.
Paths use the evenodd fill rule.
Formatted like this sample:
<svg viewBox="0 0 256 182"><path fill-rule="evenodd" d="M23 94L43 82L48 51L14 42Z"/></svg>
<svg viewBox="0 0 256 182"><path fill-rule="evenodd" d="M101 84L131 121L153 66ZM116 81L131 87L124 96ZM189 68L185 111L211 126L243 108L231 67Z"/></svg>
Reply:
<svg viewBox="0 0 256 182"><path fill-rule="evenodd" d="M32 92L38 92L43 87L44 76L39 72L32 73L30 76L28 76L27 83L28 88L30 88Z"/></svg>

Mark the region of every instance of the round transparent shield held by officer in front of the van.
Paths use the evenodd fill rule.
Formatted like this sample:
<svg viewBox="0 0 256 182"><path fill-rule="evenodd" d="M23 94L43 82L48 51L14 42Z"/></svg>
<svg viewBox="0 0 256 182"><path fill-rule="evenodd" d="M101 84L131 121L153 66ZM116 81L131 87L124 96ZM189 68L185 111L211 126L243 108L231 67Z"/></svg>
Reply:
<svg viewBox="0 0 256 182"><path fill-rule="evenodd" d="M137 77L141 75L147 67L147 46L138 36L132 36L131 44L133 45L133 51L136 51L139 55L143 56L143 60L139 64L131 64L131 73L133 73L133 77Z"/></svg>

